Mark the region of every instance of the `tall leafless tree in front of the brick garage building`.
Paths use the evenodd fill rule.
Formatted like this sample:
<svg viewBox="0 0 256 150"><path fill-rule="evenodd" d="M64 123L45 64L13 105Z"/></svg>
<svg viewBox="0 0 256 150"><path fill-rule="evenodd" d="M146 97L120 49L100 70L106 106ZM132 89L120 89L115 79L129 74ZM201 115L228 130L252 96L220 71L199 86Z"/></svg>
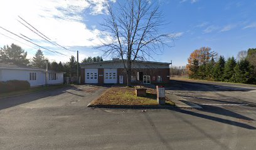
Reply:
<svg viewBox="0 0 256 150"><path fill-rule="evenodd" d="M98 48L104 55L121 58L127 73L127 86L131 86L132 62L145 61L152 54L163 53L161 48L168 46L174 34L161 34L163 14L156 3L147 0L122 1L108 4L108 17L105 18L104 31L109 37ZM169 40L169 41L168 41Z"/></svg>

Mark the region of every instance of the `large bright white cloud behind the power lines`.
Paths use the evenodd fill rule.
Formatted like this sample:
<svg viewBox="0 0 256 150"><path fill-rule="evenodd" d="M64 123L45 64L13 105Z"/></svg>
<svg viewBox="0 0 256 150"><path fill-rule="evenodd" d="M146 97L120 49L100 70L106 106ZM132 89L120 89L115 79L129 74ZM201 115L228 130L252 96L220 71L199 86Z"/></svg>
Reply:
<svg viewBox="0 0 256 150"><path fill-rule="evenodd" d="M61 47L53 46L20 24L17 21L17 19L21 21L18 16L23 17L23 19L43 32L43 34L50 37L51 41L58 42L61 46L70 48L73 46L92 47L100 43L99 37L102 38L101 40L104 40L104 36L102 36L102 32L96 29L96 27L88 29L85 24L86 22L84 22L87 16L83 13L85 13L85 10L89 10L90 14L103 14L106 1L107 0L1 0L0 26L16 34L24 34L33 39L33 42L36 42L36 44L40 44L40 46L48 47L48 49L57 49L61 53L70 56L70 52L61 49ZM109 1L115 2L115 0ZM13 36L3 29L0 29L0 33L6 34L24 43L22 44L21 42L14 41L0 34L0 47L14 42L28 51L28 56L35 54L36 51L31 48L31 46L38 49L37 46L23 41L23 39L19 39L19 37ZM68 59L67 57L55 56L54 54L52 56L49 55L49 57L57 60Z"/></svg>

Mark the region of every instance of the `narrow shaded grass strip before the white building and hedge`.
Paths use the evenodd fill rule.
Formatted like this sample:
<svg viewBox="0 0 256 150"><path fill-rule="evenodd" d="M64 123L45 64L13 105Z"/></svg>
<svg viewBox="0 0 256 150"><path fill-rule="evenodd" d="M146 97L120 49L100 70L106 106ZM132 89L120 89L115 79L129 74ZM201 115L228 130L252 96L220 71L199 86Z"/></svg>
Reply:
<svg viewBox="0 0 256 150"><path fill-rule="evenodd" d="M64 87L68 87L68 86L70 86L70 85L60 84L60 85L52 85L52 86L40 86L40 87L30 88L30 89L23 90L23 91L13 91L13 92L9 92L9 93L1 93L0 98L6 98L9 96L16 96L16 95L20 95L20 94L33 93L33 92L38 92L38 91L59 89L59 88L64 88Z"/></svg>

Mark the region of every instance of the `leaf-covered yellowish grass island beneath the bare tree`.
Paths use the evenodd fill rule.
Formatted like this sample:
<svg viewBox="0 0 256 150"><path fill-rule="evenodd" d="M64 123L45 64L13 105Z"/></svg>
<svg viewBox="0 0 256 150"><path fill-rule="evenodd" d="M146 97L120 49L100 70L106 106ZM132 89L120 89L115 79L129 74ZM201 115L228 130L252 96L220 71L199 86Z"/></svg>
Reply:
<svg viewBox="0 0 256 150"><path fill-rule="evenodd" d="M174 104L170 101L168 104ZM156 90L147 89L146 97L137 97L135 88L109 88L98 99L90 103L90 106L97 105L158 105L156 101Z"/></svg>

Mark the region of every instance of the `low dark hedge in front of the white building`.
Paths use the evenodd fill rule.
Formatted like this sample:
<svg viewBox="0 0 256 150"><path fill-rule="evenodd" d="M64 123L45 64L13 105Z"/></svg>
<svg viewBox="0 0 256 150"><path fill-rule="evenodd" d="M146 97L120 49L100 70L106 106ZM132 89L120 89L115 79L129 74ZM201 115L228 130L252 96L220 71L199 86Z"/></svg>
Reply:
<svg viewBox="0 0 256 150"><path fill-rule="evenodd" d="M29 88L30 84L28 81L9 80L6 82L0 82L0 93L20 91Z"/></svg>

